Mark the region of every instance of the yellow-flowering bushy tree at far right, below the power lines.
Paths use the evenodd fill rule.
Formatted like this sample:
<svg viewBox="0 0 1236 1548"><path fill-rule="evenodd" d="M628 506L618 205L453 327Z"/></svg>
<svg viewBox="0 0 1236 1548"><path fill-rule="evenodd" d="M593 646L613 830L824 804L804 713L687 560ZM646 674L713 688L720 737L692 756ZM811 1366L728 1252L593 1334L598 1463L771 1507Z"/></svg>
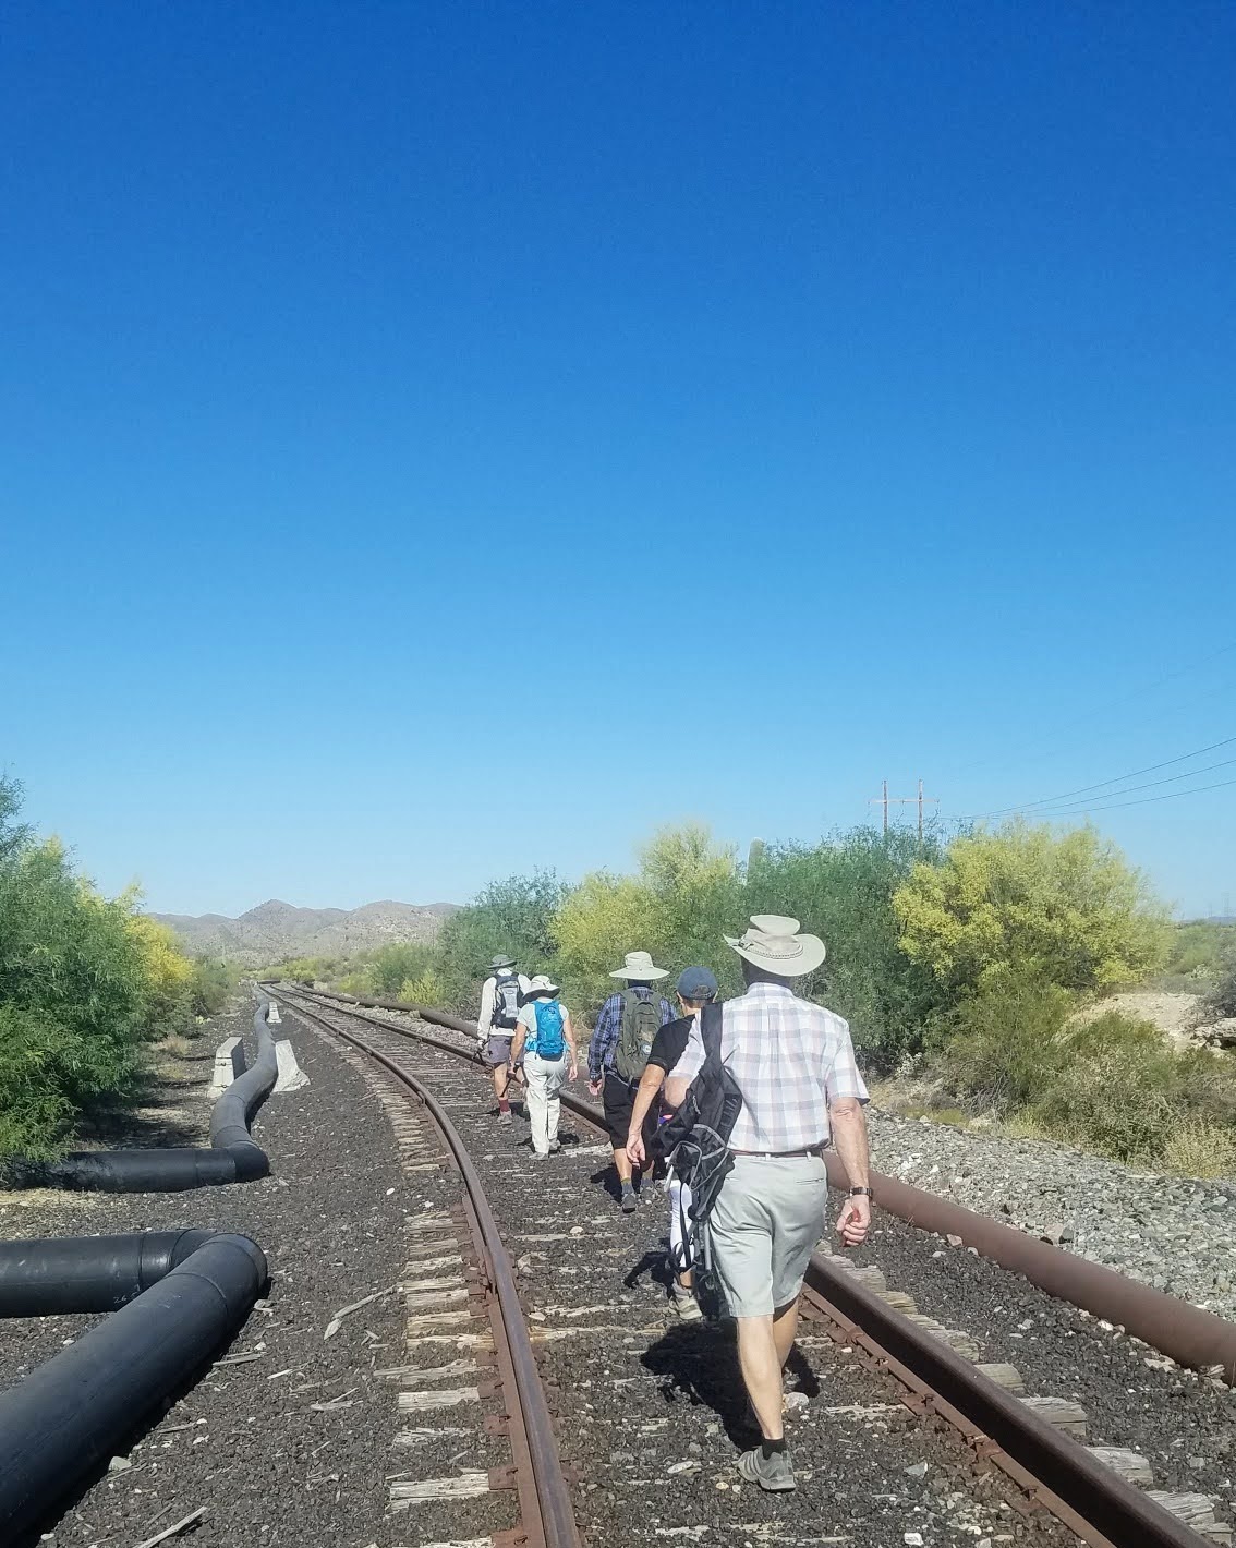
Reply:
<svg viewBox="0 0 1236 1548"><path fill-rule="evenodd" d="M1166 910L1091 828L1009 822L916 864L893 896L900 946L953 1000L1012 968L1083 992L1137 983L1169 949Z"/></svg>

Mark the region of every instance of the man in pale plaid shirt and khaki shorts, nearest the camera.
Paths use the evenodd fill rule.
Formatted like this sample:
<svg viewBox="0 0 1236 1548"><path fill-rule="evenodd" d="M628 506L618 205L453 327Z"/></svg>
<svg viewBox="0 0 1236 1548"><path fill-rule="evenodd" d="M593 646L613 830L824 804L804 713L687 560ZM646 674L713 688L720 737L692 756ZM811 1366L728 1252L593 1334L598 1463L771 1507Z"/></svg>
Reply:
<svg viewBox="0 0 1236 1548"><path fill-rule="evenodd" d="M798 1325L807 1260L825 1226L821 1152L829 1138L851 1183L837 1221L842 1240L857 1246L871 1224L866 1087L846 1022L794 994L794 980L825 960L825 943L800 933L797 920L773 913L755 915L746 933L727 935L726 943L743 958L747 992L721 1006L712 1050L705 1050L705 1008L671 1077L695 1081L701 1071L724 1071L741 1091L707 1237L738 1324L738 1364L763 1435L760 1446L739 1457L738 1471L761 1489L783 1491L794 1488L794 1468L781 1368ZM693 1094L695 1085L684 1113Z"/></svg>

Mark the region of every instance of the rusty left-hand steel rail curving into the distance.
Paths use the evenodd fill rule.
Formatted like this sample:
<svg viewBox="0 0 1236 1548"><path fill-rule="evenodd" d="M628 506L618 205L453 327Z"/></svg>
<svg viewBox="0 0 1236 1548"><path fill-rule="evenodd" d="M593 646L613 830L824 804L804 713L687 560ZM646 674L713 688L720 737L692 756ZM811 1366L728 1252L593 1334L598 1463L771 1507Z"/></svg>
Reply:
<svg viewBox="0 0 1236 1548"><path fill-rule="evenodd" d="M515 1457L515 1483L520 1497L523 1534L528 1539L529 1548L580 1548L571 1494L558 1455L558 1443L554 1435L554 1421L549 1416L545 1389L537 1372L537 1358L532 1353L532 1342L528 1336L528 1322L520 1305L515 1272L503 1245L498 1221L486 1198L484 1184L472 1164L459 1132L452 1124L446 1108L416 1076L404 1070L394 1059L382 1053L381 1048L367 1043L364 1037L357 1037L340 1026L331 1026L322 1015L314 1015L312 1011L299 1006L295 1003L297 998L299 995L285 995L285 1000L292 1006L295 1014L309 1017L333 1036L342 1037L343 1042L351 1043L353 1048L382 1065L396 1081L405 1085L425 1107L446 1141L464 1184L466 1209L476 1224L473 1240L483 1255L486 1280L498 1308L498 1317L495 1319L498 1325L493 1330L493 1342L500 1370L509 1361L509 1385L518 1404L518 1412L510 1412L507 1418L510 1449ZM351 1015L356 1012L347 1014ZM377 1025L385 1026L387 1023L379 1022ZM459 1050L450 1050L446 1043L439 1046L447 1048L450 1053L459 1053ZM509 1402L507 1407L510 1409Z"/></svg>

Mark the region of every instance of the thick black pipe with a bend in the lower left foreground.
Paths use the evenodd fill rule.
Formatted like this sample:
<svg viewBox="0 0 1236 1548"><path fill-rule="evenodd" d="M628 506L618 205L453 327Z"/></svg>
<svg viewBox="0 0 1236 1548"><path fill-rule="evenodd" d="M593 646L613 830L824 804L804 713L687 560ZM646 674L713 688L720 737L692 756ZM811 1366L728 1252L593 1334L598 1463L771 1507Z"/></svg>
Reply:
<svg viewBox="0 0 1236 1548"><path fill-rule="evenodd" d="M159 1232L159 1238L201 1235ZM32 1282L71 1249L105 1294L121 1259L141 1262L142 1238L82 1237L74 1243L11 1243ZM131 1259L136 1254L136 1259ZM164 1398L176 1392L240 1327L266 1283L266 1259L248 1237L206 1234L183 1262L167 1240L152 1248L169 1271L54 1359L0 1393L0 1542L43 1520L54 1503L110 1457ZM147 1263L150 1268L150 1263ZM141 1269L138 1269L141 1274ZM62 1311L54 1286L39 1310ZM15 1299L15 1297L14 1297ZM80 1310L74 1307L73 1310Z"/></svg>

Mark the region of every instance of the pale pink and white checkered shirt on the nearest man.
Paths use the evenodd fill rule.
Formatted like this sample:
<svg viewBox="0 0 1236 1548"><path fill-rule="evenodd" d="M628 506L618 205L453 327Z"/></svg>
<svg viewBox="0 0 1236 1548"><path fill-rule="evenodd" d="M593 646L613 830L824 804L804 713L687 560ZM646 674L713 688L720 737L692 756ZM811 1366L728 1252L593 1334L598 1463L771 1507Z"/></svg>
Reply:
<svg viewBox="0 0 1236 1548"><path fill-rule="evenodd" d="M721 1057L743 1090L735 1150L807 1150L829 1138L828 1104L865 1102L849 1023L775 983L756 983L722 1006ZM699 1022L670 1071L687 1081L704 1063Z"/></svg>

